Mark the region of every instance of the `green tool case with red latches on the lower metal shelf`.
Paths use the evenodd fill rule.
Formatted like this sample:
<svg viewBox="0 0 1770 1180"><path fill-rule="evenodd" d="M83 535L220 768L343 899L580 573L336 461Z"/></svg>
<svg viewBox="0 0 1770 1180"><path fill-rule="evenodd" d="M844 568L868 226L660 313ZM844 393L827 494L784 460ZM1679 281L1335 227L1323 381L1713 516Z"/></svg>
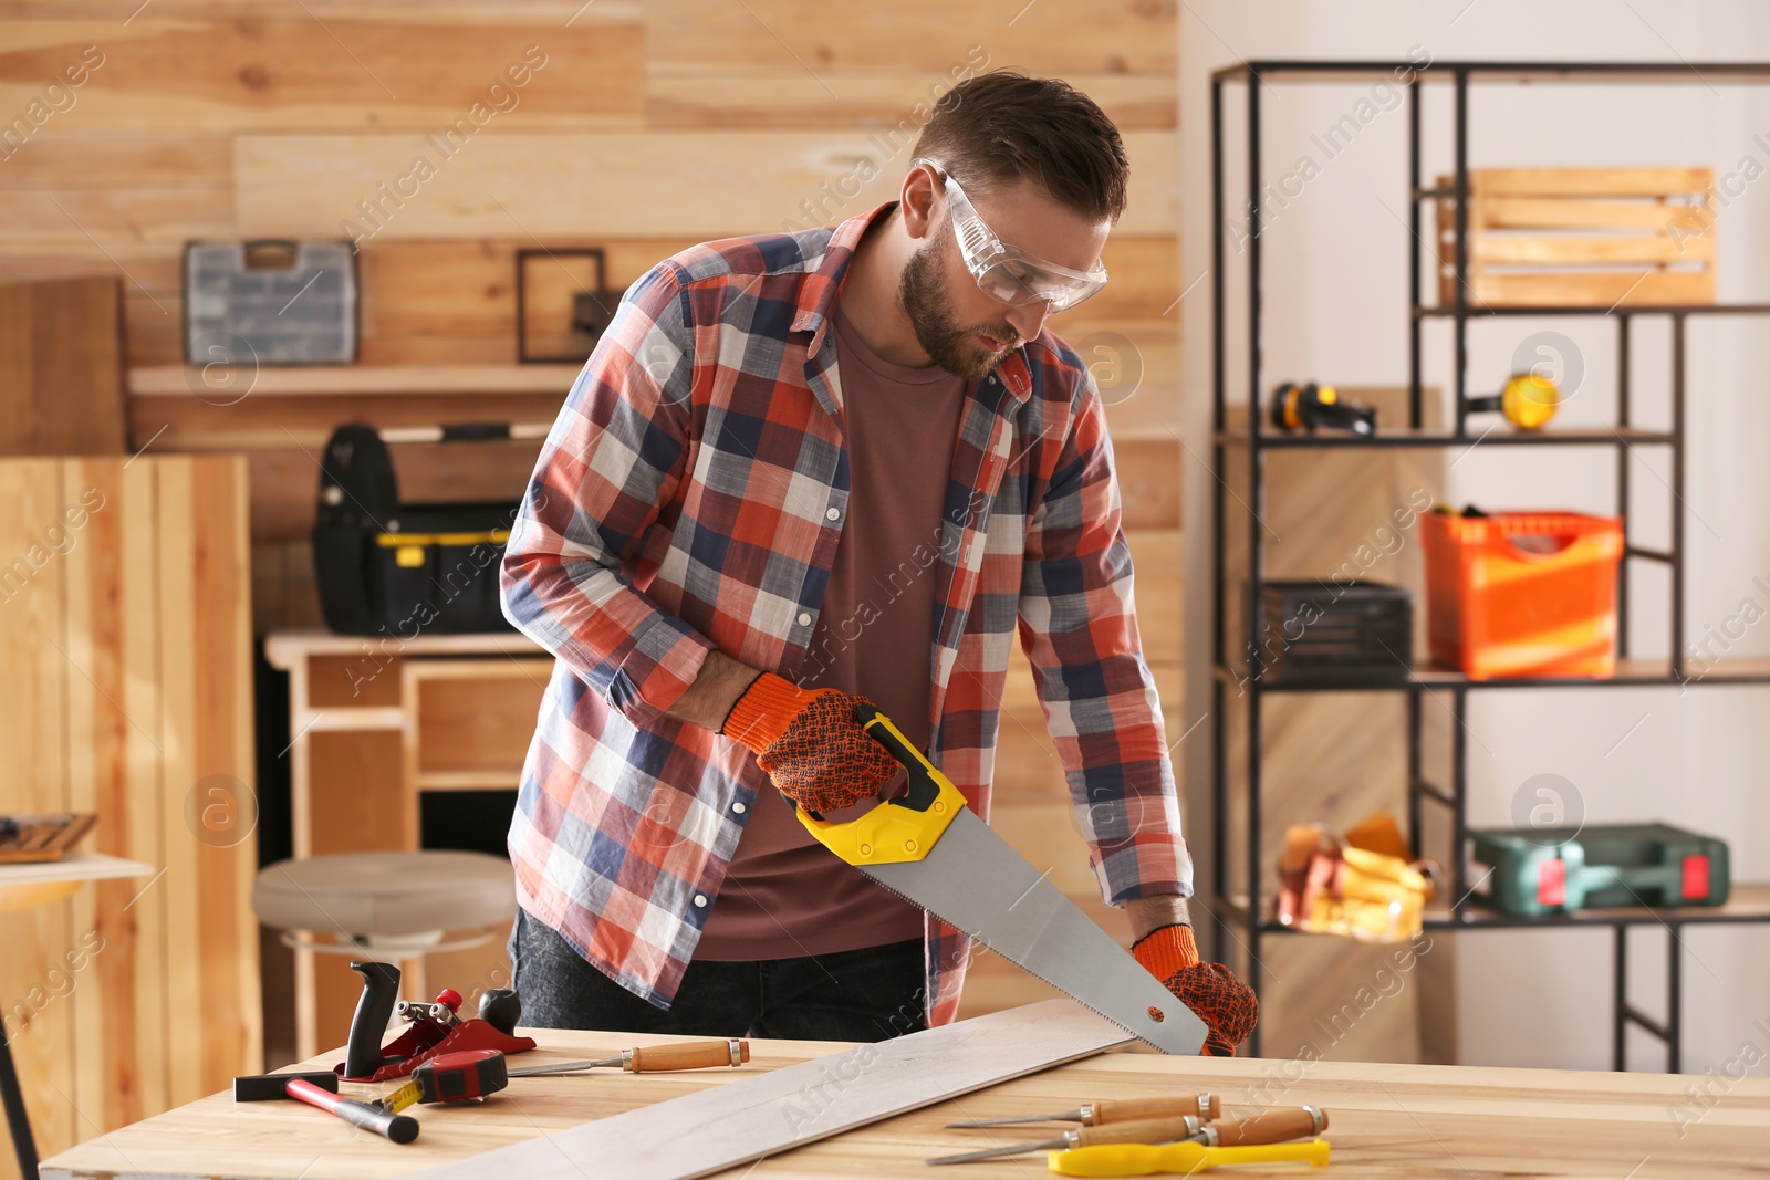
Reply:
<svg viewBox="0 0 1770 1180"><path fill-rule="evenodd" d="M1519 918L1612 906L1720 906L1728 846L1669 824L1494 828L1469 833L1471 879Z"/></svg>

